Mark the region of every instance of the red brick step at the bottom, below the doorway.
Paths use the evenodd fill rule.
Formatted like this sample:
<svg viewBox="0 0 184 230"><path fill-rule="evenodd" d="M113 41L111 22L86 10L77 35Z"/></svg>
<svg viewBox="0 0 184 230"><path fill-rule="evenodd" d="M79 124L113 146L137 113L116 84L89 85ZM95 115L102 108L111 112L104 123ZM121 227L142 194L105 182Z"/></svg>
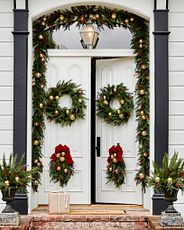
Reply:
<svg viewBox="0 0 184 230"><path fill-rule="evenodd" d="M145 216L129 215L47 215L34 216L32 230L115 230L148 229Z"/></svg>

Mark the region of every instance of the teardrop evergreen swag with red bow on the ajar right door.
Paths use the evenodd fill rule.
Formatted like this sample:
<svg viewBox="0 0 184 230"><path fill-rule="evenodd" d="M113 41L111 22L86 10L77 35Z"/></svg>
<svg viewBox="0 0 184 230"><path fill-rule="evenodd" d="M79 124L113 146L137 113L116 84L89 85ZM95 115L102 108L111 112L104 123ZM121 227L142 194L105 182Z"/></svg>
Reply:
<svg viewBox="0 0 184 230"><path fill-rule="evenodd" d="M126 176L126 165L122 155L123 150L118 143L109 149L109 156L107 158L107 183L113 182L117 188L124 183Z"/></svg>

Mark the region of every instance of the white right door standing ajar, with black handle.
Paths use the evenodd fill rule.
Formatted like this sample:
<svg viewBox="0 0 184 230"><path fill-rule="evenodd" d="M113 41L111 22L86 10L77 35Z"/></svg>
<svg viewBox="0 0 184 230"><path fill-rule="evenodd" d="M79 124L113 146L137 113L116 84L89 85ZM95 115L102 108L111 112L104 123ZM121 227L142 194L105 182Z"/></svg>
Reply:
<svg viewBox="0 0 184 230"><path fill-rule="evenodd" d="M130 92L135 89L134 58L117 58L98 60L96 63L96 92L108 84L118 85L121 82ZM117 106L117 105L116 105ZM96 118L96 136L100 137L100 157L96 157L96 201L104 203L142 204L142 192L136 187L134 177L138 146L136 143L136 118L133 114L123 126L106 124ZM120 143L126 163L126 180L119 189L106 182L108 149Z"/></svg>

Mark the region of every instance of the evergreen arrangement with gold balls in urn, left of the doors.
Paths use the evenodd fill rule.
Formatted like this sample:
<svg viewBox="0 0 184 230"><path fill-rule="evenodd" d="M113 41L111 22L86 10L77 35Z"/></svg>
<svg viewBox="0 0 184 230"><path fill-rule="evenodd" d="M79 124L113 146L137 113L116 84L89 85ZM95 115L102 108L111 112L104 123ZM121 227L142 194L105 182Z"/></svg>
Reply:
<svg viewBox="0 0 184 230"><path fill-rule="evenodd" d="M27 186L32 181L32 175L37 172L37 168L27 170L24 164L24 155L20 160L17 156L10 154L6 161L3 155L2 164L0 164L0 190L2 200L6 201L6 207L2 213L13 213L15 210L11 207L17 191L27 192Z"/></svg>

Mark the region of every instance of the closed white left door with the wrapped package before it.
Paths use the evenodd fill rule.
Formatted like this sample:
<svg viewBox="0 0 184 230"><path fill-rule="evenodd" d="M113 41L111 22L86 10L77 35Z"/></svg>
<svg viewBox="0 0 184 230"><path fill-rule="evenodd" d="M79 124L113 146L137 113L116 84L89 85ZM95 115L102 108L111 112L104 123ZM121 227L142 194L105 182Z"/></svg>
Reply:
<svg viewBox="0 0 184 230"><path fill-rule="evenodd" d="M89 57L50 57L47 71L47 87L56 87L61 80L71 80L85 90L87 109L85 119L75 121L71 126L60 126L45 119L45 141L43 146L42 186L39 189L39 204L48 204L48 194L52 191L68 191L73 204L90 203L90 77ZM71 98L65 96L61 105L70 107ZM66 188L50 182L49 161L55 146L66 144L75 162L75 174Z"/></svg>

